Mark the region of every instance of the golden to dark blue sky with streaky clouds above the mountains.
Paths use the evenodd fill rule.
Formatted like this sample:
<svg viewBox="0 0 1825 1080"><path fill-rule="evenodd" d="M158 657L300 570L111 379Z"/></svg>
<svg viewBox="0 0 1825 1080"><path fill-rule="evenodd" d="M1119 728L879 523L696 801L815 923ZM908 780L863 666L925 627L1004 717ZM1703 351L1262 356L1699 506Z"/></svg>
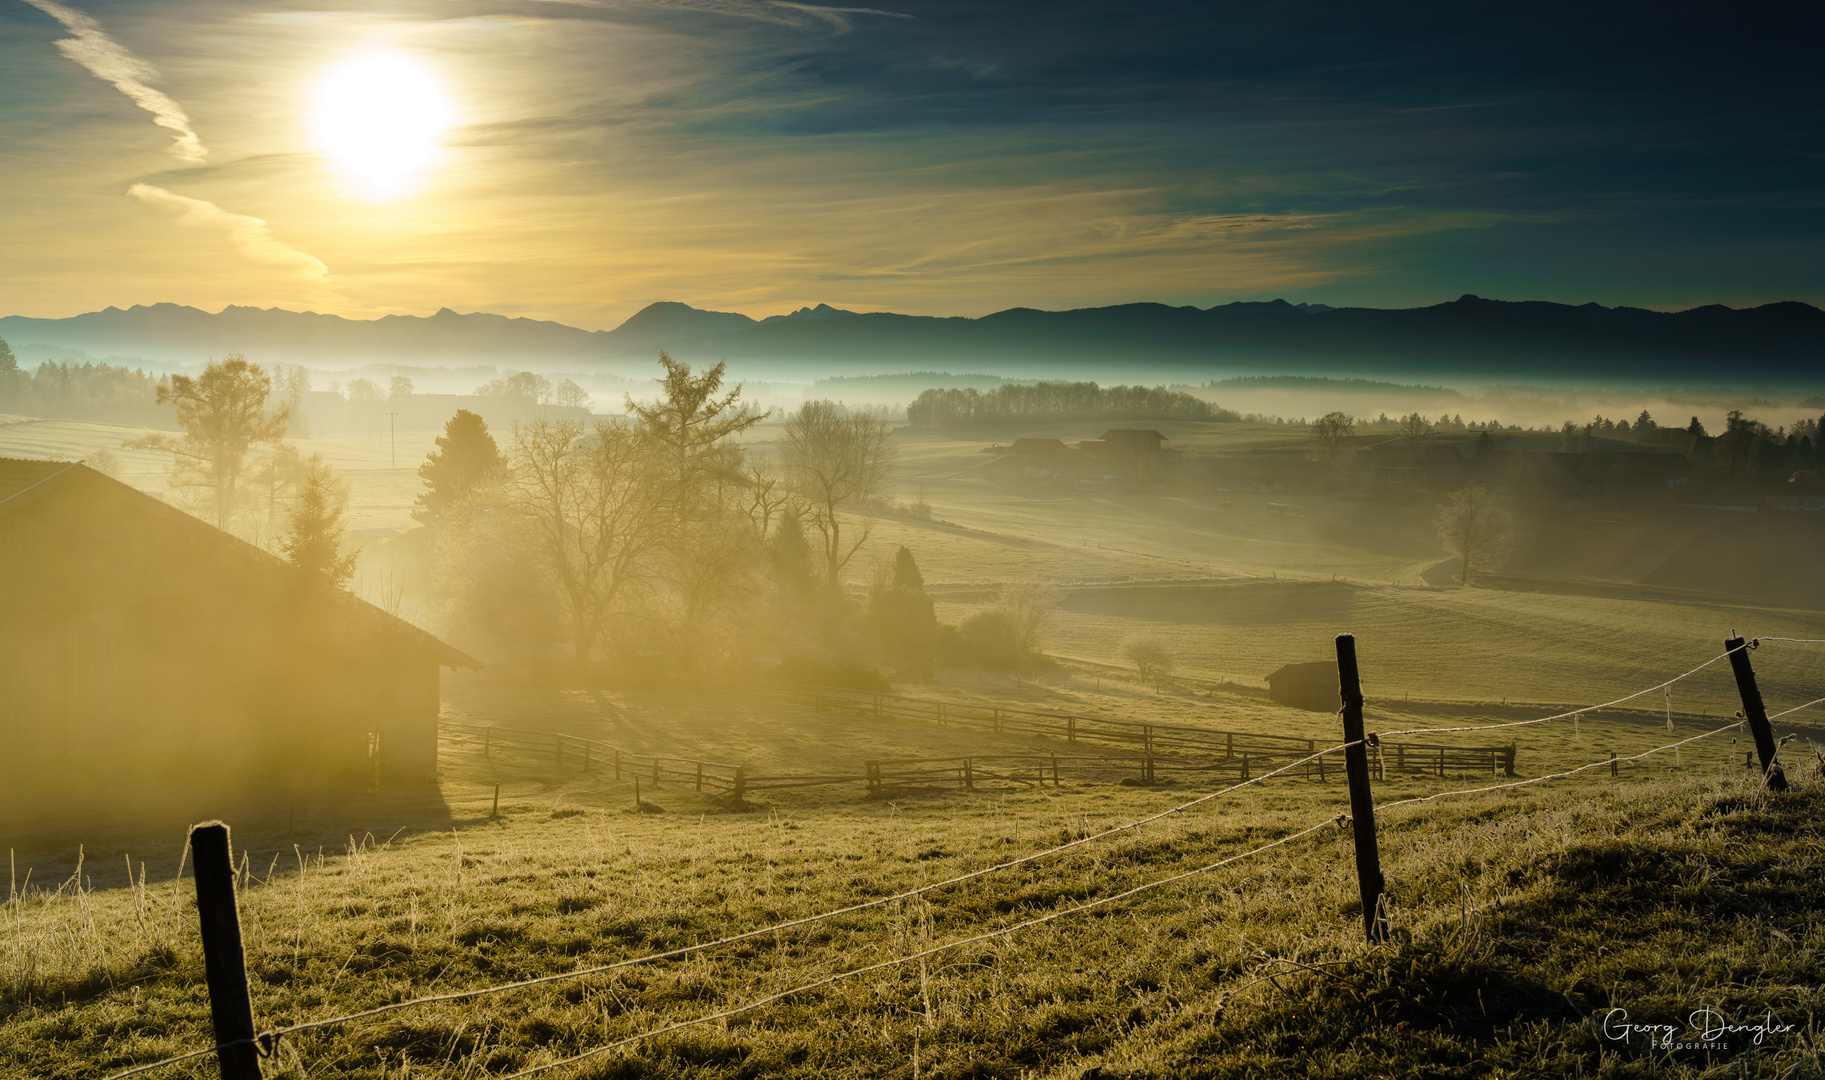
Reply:
<svg viewBox="0 0 1825 1080"><path fill-rule="evenodd" d="M1825 301L1801 5L0 0L0 314Z"/></svg>

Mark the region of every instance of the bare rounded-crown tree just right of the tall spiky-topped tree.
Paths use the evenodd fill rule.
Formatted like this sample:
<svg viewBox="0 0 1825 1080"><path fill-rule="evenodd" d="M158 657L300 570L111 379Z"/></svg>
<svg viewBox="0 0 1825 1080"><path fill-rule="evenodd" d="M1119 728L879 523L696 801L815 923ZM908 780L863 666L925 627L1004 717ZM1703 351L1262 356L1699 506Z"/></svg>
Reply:
<svg viewBox="0 0 1825 1080"><path fill-rule="evenodd" d="M832 401L805 401L787 421L779 460L788 485L808 504L807 518L823 538L825 580L841 584L843 567L872 531L863 520L860 536L843 547L838 513L854 502L880 494L892 467L892 427L878 409L856 409L847 416Z"/></svg>

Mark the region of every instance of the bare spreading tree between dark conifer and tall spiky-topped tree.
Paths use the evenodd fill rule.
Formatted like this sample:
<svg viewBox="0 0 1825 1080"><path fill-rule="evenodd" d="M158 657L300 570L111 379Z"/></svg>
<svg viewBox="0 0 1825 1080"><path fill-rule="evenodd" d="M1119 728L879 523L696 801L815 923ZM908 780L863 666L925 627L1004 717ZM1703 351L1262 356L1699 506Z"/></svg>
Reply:
<svg viewBox="0 0 1825 1080"><path fill-rule="evenodd" d="M672 535L664 462L652 440L617 420L516 423L509 460L531 555L569 622L577 662L588 662L610 613Z"/></svg>

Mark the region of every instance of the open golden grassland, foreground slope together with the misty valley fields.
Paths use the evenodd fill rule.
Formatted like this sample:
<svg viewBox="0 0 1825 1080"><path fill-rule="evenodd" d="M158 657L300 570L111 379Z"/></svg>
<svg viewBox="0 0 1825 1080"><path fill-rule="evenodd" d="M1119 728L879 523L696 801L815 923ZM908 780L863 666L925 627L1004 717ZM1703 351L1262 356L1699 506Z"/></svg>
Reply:
<svg viewBox="0 0 1825 1080"><path fill-rule="evenodd" d="M1082 427L1082 425L1079 425ZM128 429L0 423L0 456L80 456ZM757 429L765 452L776 429ZM1095 434L1079 429L1069 438ZM1250 449L1288 438L1210 425L1173 438ZM347 480L350 525L411 527L434 432L301 441ZM892 494L933 520L881 516L852 584L905 544L940 618L1009 580L1058 586L1044 651L1022 671L894 673L903 693L1340 741L1338 719L1274 704L1265 677L1358 635L1371 730L1496 724L1595 704L1714 659L1726 631L1825 639L1825 613L1644 584L1652 558L1606 560L1597 525L1555 525L1526 558L1551 587L1438 584L1427 505L1265 493L1055 494L996 480L996 438L896 436ZM113 451L162 489L157 454ZM1586 529L1586 531L1579 531ZM1611 536L1611 544L1621 547ZM1639 545L1635 547L1639 549ZM1595 551L1595 553L1593 553ZM429 606L425 608L429 611ZM1141 682L1117 642L1150 631L1177 671ZM1754 653L1772 711L1820 695L1825 646ZM1624 708L1458 742L1517 746L1520 779L1633 757L1728 722L1726 664ZM653 1040L577 1076L1706 1076L1816 1075L1812 768L1763 795L1736 732L1577 777L1447 797L1382 817L1394 940L1363 941L1338 783L1274 779L1084 843L810 927L664 963L387 1012L279 1042L268 1076L502 1076L608 1042L1110 899L787 996ZM772 772L852 772L876 757L1006 753L1055 741L876 721L726 688L573 688L537 673L445 675L443 719L564 732L639 753ZM1674 732L1668 732L1668 726ZM1413 735L1429 741L1425 735ZM1057 746L1051 746L1057 750ZM1389 775L1382 805L1496 783ZM445 742L434 790L294 797L230 815L246 857L243 925L263 1027L562 974L892 898L1168 812L1217 784L861 784L761 792L746 805L675 784L641 792L544 755ZM500 817L493 817L498 790ZM106 1076L208 1045L182 821L13 823L0 930L0 1073ZM1294 837L1281 846L1256 848ZM1117 894L1246 856L1126 899ZM29 874L29 878L27 878ZM1745 1051L1657 1051L1593 1023L1712 1007L1798 1031ZM210 1060L173 1076L214 1075Z"/></svg>

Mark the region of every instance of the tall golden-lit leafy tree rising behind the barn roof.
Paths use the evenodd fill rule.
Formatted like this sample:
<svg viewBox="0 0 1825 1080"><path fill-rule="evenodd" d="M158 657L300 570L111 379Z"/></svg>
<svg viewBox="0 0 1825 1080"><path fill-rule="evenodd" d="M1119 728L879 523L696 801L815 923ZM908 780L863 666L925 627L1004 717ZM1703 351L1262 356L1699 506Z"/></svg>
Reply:
<svg viewBox="0 0 1825 1080"><path fill-rule="evenodd" d="M131 447L170 451L172 485L204 493L215 527L234 522L241 493L241 472L254 445L285 438L290 410L266 409L272 378L239 352L212 361L197 378L172 376L159 387L159 405L177 409L177 427L184 438L148 436Z"/></svg>

